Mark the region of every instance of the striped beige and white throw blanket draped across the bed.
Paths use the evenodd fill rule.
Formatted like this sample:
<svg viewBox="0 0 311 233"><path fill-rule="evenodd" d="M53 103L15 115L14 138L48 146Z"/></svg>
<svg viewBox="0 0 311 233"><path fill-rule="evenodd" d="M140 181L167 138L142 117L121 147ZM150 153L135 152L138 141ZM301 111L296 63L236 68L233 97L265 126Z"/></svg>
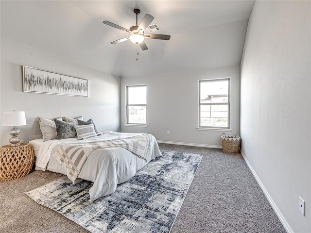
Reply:
<svg viewBox="0 0 311 233"><path fill-rule="evenodd" d="M151 159L151 134L131 135L125 138L104 139L99 137L93 140L87 139L85 142L61 143L52 149L55 151L52 156L66 169L66 174L72 183L77 179L87 156L97 149L122 147L136 154L138 157L150 161Z"/></svg>

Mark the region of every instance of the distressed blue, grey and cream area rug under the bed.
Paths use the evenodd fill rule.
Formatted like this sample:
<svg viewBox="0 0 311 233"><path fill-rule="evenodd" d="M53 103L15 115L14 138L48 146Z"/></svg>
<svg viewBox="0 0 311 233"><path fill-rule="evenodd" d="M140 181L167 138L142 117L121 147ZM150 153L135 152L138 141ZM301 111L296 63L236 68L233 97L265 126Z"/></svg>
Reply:
<svg viewBox="0 0 311 233"><path fill-rule="evenodd" d="M202 155L162 151L116 192L90 202L93 183L68 178L26 194L92 233L169 233Z"/></svg>

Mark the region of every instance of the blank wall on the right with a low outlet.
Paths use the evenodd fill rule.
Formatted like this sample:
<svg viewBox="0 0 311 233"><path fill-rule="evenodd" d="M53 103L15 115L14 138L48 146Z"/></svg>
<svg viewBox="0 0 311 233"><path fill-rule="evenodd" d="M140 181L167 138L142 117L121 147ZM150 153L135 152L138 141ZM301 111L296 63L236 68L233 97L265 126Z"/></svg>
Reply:
<svg viewBox="0 0 311 233"><path fill-rule="evenodd" d="M241 64L242 152L294 233L311 232L310 4L256 1Z"/></svg>

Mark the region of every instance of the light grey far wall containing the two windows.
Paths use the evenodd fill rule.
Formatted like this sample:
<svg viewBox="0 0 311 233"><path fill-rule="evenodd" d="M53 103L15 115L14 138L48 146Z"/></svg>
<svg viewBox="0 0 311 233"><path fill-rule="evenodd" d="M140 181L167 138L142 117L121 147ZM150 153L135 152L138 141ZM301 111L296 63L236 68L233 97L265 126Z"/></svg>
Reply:
<svg viewBox="0 0 311 233"><path fill-rule="evenodd" d="M157 140L221 147L222 131L198 131L199 80L231 77L231 132L239 133L240 67L221 67L192 72L146 74L121 78L121 131L152 133ZM147 84L147 128L125 124L126 85ZM170 131L170 135L167 134Z"/></svg>

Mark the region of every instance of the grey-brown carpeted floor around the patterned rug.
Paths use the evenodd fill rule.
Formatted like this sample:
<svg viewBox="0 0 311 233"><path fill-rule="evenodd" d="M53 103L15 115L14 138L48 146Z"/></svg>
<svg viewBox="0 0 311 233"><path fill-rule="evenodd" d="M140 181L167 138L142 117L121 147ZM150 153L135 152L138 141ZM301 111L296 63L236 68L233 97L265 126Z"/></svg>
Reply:
<svg viewBox="0 0 311 233"><path fill-rule="evenodd" d="M286 233L241 154L159 146L162 150L203 155L171 233ZM63 175L34 171L19 180L0 182L0 232L87 232L23 193L60 177Z"/></svg>

